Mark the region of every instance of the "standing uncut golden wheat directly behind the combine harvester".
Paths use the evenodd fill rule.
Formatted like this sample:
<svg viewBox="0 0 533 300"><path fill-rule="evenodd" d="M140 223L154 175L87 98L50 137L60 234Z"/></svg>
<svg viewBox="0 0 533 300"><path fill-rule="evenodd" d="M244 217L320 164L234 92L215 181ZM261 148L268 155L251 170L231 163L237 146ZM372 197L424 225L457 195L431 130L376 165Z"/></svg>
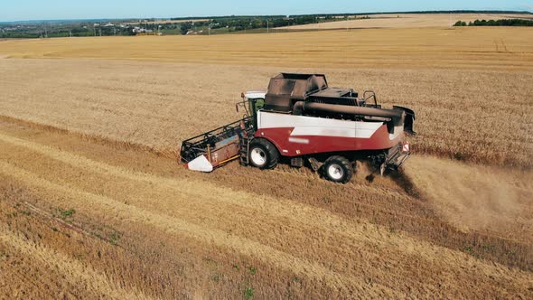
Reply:
<svg viewBox="0 0 533 300"><path fill-rule="evenodd" d="M533 163L533 74L486 70L339 70L159 62L0 60L0 114L175 156L179 143L240 114L241 91L281 70L325 72L416 111L416 153L483 164Z"/></svg>

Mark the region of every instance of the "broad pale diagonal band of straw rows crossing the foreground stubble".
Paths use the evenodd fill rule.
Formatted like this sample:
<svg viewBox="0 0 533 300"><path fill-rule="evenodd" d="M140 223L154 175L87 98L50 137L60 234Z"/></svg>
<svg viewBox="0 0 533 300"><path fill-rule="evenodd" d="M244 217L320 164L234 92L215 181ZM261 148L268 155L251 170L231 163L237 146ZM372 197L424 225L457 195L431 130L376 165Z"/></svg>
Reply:
<svg viewBox="0 0 533 300"><path fill-rule="evenodd" d="M70 136L56 137L66 148L75 143ZM215 245L229 255L256 258L310 278L340 295L438 294L437 282L454 286L457 277L486 287L477 295L490 295L496 289L499 295L512 295L523 291L532 278L527 272L393 234L367 220L347 219L291 200L235 191L194 177L139 172L5 130L0 130L0 145L0 173L42 194L49 203L71 205L104 222L136 223L175 239ZM438 276L435 269L448 277ZM487 276L477 274L480 270ZM466 295L461 286L448 293Z"/></svg>

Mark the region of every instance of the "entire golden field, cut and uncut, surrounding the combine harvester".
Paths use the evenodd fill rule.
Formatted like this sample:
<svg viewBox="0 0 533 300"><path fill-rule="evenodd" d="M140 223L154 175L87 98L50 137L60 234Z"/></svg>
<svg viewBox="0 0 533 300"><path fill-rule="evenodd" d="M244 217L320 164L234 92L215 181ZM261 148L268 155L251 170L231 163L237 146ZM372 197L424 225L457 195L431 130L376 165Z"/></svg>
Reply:
<svg viewBox="0 0 533 300"><path fill-rule="evenodd" d="M2 41L0 297L530 298L531 35ZM416 155L346 185L175 163L287 70L414 108Z"/></svg>

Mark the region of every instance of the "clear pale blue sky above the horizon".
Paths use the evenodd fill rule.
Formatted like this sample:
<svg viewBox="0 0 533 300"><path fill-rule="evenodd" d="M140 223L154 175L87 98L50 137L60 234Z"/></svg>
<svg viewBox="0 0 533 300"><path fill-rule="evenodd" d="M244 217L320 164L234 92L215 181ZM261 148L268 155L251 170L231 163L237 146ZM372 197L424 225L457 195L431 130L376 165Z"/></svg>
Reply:
<svg viewBox="0 0 533 300"><path fill-rule="evenodd" d="M229 14L369 13L414 10L527 10L533 0L4 0L0 22L90 18L166 18Z"/></svg>

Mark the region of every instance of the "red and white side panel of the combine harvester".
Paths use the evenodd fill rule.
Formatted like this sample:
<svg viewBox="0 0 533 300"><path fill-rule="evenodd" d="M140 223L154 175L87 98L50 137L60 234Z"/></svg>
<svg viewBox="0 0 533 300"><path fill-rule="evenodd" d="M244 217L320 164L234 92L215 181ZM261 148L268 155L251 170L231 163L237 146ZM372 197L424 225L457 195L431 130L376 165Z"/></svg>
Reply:
<svg viewBox="0 0 533 300"><path fill-rule="evenodd" d="M355 150L381 150L397 145L403 127L389 134L383 122L360 122L258 111L256 137L276 145L280 155L298 156Z"/></svg>

